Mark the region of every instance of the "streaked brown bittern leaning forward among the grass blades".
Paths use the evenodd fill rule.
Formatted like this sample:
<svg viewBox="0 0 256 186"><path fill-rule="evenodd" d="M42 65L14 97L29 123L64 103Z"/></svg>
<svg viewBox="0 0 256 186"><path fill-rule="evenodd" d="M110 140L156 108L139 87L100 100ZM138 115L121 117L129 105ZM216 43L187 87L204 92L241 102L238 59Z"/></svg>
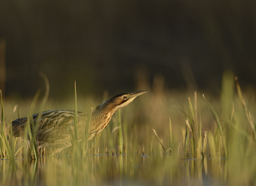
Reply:
<svg viewBox="0 0 256 186"><path fill-rule="evenodd" d="M92 113L89 126L89 140L95 135L99 135L108 125L113 114L120 108L129 105L137 96L145 94L145 91L119 94L103 104L97 106ZM38 118L38 115L41 115ZM88 115L77 112L77 137L81 142L85 135L85 128ZM70 132L75 131L75 111L70 110L51 110L44 111L41 114L33 115L34 123L38 122L38 131L36 134L37 146L51 147L54 145L55 153L72 145ZM27 117L22 117L12 122L12 130L14 137L23 137L25 126L28 121ZM31 122L30 122L31 128Z"/></svg>

